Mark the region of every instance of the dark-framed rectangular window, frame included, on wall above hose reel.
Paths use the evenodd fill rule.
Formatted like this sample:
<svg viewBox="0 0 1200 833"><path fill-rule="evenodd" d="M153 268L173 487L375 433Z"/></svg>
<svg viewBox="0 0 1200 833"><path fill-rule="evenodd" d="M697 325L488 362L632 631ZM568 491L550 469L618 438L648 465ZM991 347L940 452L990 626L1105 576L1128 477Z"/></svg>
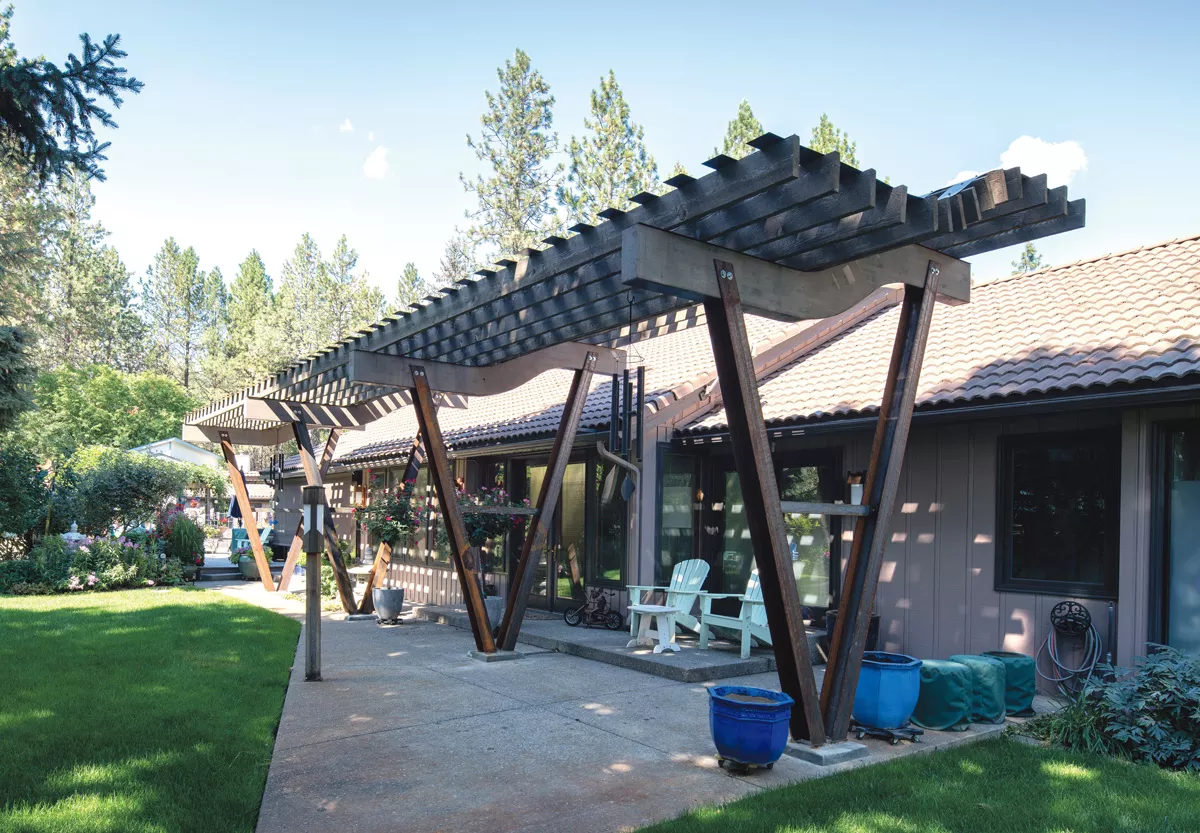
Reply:
<svg viewBox="0 0 1200 833"><path fill-rule="evenodd" d="M1116 598L1121 437L1002 437L996 589Z"/></svg>

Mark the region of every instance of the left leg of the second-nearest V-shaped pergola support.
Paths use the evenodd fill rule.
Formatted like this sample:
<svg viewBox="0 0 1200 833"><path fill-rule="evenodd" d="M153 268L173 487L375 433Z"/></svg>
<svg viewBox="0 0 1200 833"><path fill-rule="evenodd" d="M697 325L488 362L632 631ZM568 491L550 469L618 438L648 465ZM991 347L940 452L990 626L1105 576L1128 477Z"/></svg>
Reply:
<svg viewBox="0 0 1200 833"><path fill-rule="evenodd" d="M433 391L421 366L414 365L412 371L413 404L416 409L416 423L420 426L421 436L425 437L430 480L434 485L438 504L442 507L442 520L445 521L446 537L450 539L450 558L458 574L458 586L462 588L462 598L467 604L467 618L470 619L470 630L475 636L475 648L485 654L494 654L496 640L492 637L487 609L484 606L484 585L480 581L479 564L476 564L472 552L470 541L467 540L467 529L463 525L462 510L458 508L455 489L454 469L446 455L442 426L438 424Z"/></svg>

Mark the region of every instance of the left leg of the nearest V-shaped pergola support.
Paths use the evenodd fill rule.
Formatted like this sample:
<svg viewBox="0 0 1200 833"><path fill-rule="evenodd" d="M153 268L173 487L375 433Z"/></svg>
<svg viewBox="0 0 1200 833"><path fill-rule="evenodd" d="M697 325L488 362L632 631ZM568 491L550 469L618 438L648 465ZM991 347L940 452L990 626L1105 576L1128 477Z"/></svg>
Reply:
<svg viewBox="0 0 1200 833"><path fill-rule="evenodd" d="M713 342L716 376L725 397L733 461L742 481L746 527L754 544L755 563L762 586L767 625L775 651L779 683L796 700L792 708L792 737L818 747L824 743L824 726L817 697L812 658L804 630L800 594L792 574L792 556L784 528L784 510L775 483L770 442L762 418L754 355L746 336L745 317L733 265L713 260L720 298L704 298L704 317Z"/></svg>

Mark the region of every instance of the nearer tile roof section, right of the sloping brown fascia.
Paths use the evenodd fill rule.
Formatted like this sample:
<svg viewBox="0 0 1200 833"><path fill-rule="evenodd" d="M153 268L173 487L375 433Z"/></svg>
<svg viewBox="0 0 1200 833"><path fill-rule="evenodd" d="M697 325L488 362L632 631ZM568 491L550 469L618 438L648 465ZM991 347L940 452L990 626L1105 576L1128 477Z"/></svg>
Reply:
<svg viewBox="0 0 1200 833"><path fill-rule="evenodd" d="M768 424L878 409L899 307L762 382ZM918 407L1200 373L1200 235L977 283L940 305ZM684 430L726 427L724 410Z"/></svg>

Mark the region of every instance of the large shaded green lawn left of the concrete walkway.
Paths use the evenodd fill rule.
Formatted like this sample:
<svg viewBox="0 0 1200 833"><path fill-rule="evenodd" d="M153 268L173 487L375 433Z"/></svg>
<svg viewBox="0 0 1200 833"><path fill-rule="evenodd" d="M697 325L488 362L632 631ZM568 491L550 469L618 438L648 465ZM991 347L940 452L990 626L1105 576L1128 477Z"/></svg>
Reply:
<svg viewBox="0 0 1200 833"><path fill-rule="evenodd" d="M252 831L299 630L206 591L0 597L0 831Z"/></svg>

